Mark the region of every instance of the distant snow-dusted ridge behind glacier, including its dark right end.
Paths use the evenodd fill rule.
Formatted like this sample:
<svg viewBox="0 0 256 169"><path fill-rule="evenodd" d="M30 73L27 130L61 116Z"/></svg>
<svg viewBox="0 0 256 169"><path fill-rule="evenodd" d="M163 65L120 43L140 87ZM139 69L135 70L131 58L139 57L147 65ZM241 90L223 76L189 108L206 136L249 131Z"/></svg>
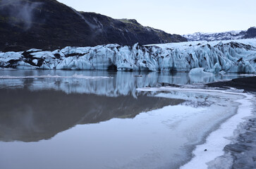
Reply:
<svg viewBox="0 0 256 169"><path fill-rule="evenodd" d="M228 31L217 33L196 32L189 35L183 35L188 41L216 41L216 40L233 40L233 39L248 39L256 37L256 27L250 27L248 30Z"/></svg>

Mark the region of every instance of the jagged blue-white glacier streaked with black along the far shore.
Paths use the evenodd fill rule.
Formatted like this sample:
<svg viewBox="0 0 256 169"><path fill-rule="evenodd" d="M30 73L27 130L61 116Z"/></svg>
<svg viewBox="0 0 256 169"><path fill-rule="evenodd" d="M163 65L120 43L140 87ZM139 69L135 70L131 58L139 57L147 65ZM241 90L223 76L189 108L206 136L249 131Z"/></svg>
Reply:
<svg viewBox="0 0 256 169"><path fill-rule="evenodd" d="M0 52L1 68L255 73L256 39Z"/></svg>

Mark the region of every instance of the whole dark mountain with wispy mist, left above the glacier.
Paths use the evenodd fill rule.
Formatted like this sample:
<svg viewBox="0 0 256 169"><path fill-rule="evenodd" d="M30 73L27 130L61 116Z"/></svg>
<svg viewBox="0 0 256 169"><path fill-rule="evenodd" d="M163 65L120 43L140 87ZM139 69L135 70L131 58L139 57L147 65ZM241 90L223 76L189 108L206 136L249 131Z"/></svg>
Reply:
<svg viewBox="0 0 256 169"><path fill-rule="evenodd" d="M78 12L56 0L0 0L0 51L187 41L136 20Z"/></svg>

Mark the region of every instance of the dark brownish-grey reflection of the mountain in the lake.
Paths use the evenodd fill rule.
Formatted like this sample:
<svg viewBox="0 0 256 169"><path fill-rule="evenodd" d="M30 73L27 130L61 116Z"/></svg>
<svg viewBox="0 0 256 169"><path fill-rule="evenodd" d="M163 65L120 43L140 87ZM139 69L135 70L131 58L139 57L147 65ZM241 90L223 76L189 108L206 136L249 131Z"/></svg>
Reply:
<svg viewBox="0 0 256 169"><path fill-rule="evenodd" d="M0 140L4 142L37 142L78 124L134 118L141 112L183 102L143 94L135 99L130 95L107 97L28 89L0 89L0 95Z"/></svg>

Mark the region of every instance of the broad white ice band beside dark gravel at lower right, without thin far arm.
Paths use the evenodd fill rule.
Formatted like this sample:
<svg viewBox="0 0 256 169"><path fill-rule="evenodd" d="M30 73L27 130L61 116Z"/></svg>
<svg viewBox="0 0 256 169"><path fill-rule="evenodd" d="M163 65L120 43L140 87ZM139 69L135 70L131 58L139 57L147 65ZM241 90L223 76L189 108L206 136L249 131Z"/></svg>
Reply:
<svg viewBox="0 0 256 169"><path fill-rule="evenodd" d="M218 91L219 92L219 91ZM225 92L225 91L223 91ZM239 93L233 93L239 94ZM245 96L244 99L236 100L240 103L238 111L231 118L228 118L226 122L222 123L219 129L211 132L204 144L198 144L193 150L193 158L181 166L181 169L186 168L233 168L236 164L236 156L231 156L229 151L226 151L228 146L233 147L233 151L237 152L236 155L240 155L240 152L246 151L243 146L233 146L236 142L237 134L240 134L238 127L242 124L247 123L245 118L252 116L252 94L240 93ZM246 111L245 111L246 109ZM236 151L237 149L242 151ZM252 150L253 151L253 150ZM252 153L251 153L252 154Z"/></svg>

